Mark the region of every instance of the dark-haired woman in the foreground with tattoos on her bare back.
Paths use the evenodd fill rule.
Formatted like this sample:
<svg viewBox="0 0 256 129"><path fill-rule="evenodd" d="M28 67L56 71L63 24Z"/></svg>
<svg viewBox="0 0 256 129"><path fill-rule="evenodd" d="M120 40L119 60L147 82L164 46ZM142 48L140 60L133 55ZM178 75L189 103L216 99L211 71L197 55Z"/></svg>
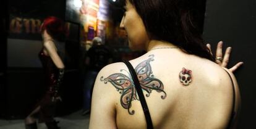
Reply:
<svg viewBox="0 0 256 129"><path fill-rule="evenodd" d="M220 67L231 49L223 58L219 43L221 52L212 56L194 22L196 2L125 1L120 27L131 49L147 53L101 69L90 129L234 127L239 88L233 73Z"/></svg>

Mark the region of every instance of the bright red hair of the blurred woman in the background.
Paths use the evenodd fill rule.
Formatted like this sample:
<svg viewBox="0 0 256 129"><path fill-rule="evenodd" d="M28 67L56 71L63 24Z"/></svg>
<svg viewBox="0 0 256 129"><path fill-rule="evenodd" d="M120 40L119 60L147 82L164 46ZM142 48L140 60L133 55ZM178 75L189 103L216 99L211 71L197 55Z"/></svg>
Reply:
<svg viewBox="0 0 256 129"><path fill-rule="evenodd" d="M66 36L66 25L57 17L47 17L41 26L41 32L47 31L55 40L64 41Z"/></svg>

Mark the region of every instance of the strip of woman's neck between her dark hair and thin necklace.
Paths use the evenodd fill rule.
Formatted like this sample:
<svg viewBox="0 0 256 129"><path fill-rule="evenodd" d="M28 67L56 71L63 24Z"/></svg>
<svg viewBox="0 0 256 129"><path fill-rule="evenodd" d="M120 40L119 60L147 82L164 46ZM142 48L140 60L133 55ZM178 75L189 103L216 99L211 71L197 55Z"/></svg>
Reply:
<svg viewBox="0 0 256 129"><path fill-rule="evenodd" d="M177 48L177 46L175 46L173 43L169 43L166 41L151 40L148 43L147 51L150 51L151 49L158 49L158 48Z"/></svg>

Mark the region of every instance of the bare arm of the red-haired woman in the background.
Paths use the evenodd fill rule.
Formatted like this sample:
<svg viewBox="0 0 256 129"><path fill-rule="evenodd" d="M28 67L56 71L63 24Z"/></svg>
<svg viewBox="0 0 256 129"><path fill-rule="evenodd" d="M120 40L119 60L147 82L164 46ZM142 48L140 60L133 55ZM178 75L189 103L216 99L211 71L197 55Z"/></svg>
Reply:
<svg viewBox="0 0 256 129"><path fill-rule="evenodd" d="M51 57L51 59L53 60L53 63L56 65L56 67L58 69L64 69L65 66L56 51L56 47L55 47L53 41L51 41L51 40L46 41L44 43L44 47L45 47L46 51L48 52L49 56Z"/></svg>

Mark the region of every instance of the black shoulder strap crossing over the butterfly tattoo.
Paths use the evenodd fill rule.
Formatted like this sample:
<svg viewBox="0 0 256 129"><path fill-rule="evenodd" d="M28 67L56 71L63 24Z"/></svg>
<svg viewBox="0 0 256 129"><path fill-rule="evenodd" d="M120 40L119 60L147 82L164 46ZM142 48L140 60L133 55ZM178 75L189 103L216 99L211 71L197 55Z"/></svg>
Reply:
<svg viewBox="0 0 256 129"><path fill-rule="evenodd" d="M124 61L124 64L126 64L126 66L129 69L130 75L132 76L132 80L134 81L134 85L136 88L136 91L138 93L138 96L140 98L140 104L142 104L142 109L147 121L147 128L148 129L153 129L153 123L150 117L150 112L148 110L148 105L147 102L145 100L144 94L142 92L142 88L140 87L140 82L138 80L137 74L135 73L134 67L132 67L132 65L130 64L129 61Z"/></svg>

